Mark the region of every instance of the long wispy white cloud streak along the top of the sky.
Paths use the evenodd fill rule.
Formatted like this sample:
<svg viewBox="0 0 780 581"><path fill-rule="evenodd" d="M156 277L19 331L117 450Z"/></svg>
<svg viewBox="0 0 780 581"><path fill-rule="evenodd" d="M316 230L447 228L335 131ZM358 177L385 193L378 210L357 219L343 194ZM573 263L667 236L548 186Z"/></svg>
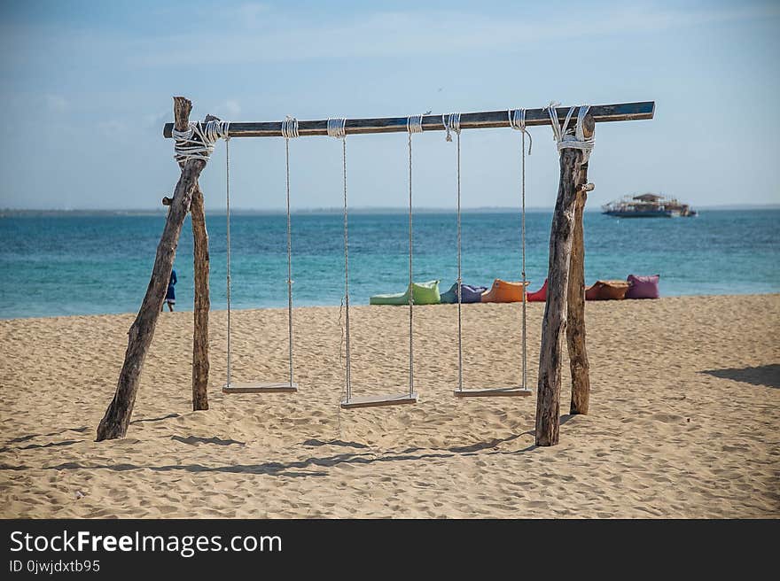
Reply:
<svg viewBox="0 0 780 581"><path fill-rule="evenodd" d="M249 7L247 7L249 6ZM255 6L255 7L252 7ZM589 12L587 21L529 20L466 12L373 12L348 21L318 22L245 5L234 12L238 29L216 43L191 43L191 31L139 42L131 57L143 66L240 65L316 58L449 54L464 50L517 50L523 45L570 42L600 35L633 35L713 22L776 18L780 6L679 10L639 6ZM197 28L198 25L193 25ZM211 23L210 26L213 26ZM244 30L242 31L241 28Z"/></svg>

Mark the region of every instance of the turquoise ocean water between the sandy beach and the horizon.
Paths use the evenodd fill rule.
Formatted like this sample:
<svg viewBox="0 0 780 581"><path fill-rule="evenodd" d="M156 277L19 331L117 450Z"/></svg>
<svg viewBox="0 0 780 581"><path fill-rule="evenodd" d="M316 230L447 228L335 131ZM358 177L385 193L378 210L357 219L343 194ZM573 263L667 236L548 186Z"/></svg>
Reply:
<svg viewBox="0 0 780 581"><path fill-rule="evenodd" d="M527 278L538 289L547 273L549 212L529 212ZM136 312L149 283L165 215L0 217L0 318ZM226 305L226 220L207 216L212 308ZM176 309L192 308L189 218L176 253ZM349 216L350 299L404 291L408 216ZM231 217L234 308L286 306L283 213ZM455 213L414 216L414 277L456 279ZM621 220L585 213L586 283L660 275L662 296L780 292L780 210L704 211L696 218ZM463 215L464 283L489 286L520 278L520 216ZM293 213L295 306L338 306L344 292L343 217Z"/></svg>

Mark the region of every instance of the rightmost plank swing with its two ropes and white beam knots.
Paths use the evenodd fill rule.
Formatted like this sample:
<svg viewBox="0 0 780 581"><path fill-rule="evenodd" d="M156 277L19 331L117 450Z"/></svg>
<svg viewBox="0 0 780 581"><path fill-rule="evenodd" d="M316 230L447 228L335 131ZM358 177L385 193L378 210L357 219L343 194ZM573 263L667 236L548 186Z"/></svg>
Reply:
<svg viewBox="0 0 780 581"><path fill-rule="evenodd" d="M461 235L461 174L460 174L460 113L450 113L448 116L441 116L441 122L447 131L447 141L451 142L450 132L456 135L456 178L457 178L457 387L453 391L456 398L518 398L527 397L533 393L527 386L527 333L526 333L526 288L528 281L526 279L526 136L531 138L526 128L526 110L515 109L507 111L509 126L512 129L520 131L522 142L520 151L522 151L522 178L521 178L521 254L522 254L522 290L523 290L523 310L522 310L522 373L519 386L512 387L489 387L482 389L465 389L463 381L464 361L463 361L463 315L461 305L463 304L463 295L461 285L463 284L462 255L463 244ZM528 152L531 147L529 144Z"/></svg>

